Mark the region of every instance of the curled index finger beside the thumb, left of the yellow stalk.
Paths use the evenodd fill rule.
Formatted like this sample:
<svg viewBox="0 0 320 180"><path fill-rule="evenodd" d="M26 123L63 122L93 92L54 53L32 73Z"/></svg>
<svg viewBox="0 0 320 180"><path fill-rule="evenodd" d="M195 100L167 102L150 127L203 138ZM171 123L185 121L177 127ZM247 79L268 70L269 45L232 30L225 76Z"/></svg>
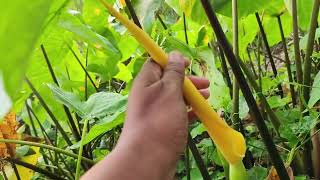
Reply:
<svg viewBox="0 0 320 180"><path fill-rule="evenodd" d="M147 87L159 81L162 76L161 67L152 59L148 59L140 70L135 83Z"/></svg>

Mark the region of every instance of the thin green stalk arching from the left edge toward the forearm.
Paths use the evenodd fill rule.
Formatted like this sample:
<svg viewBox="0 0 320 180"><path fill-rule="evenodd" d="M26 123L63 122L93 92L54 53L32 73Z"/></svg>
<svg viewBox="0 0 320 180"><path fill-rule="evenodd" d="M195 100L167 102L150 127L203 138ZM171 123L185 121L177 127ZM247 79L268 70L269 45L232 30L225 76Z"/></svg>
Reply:
<svg viewBox="0 0 320 180"><path fill-rule="evenodd" d="M49 146L49 145L46 145L46 144L30 142L30 141L14 140L14 139L0 139L0 142L40 147L40 148L52 150L52 151L57 152L57 153L65 154L65 155L73 157L73 158L78 158L77 154L74 154L72 152L69 152L67 150L60 149L60 148L57 148L57 147L54 147L54 146ZM88 158L85 158L85 157L82 157L81 159L82 159L82 161L85 161L88 164L91 164L91 165L95 164L95 161L93 161L91 159L88 159Z"/></svg>

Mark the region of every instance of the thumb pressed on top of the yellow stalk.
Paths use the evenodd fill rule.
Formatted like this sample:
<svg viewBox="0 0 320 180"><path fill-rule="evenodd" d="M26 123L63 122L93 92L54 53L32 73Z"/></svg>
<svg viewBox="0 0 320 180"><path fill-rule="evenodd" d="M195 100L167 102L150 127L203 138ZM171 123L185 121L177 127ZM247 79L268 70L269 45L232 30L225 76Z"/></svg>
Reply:
<svg viewBox="0 0 320 180"><path fill-rule="evenodd" d="M182 87L185 75L184 70L188 61L179 52L170 53L168 58L168 64L164 69L162 80Z"/></svg>

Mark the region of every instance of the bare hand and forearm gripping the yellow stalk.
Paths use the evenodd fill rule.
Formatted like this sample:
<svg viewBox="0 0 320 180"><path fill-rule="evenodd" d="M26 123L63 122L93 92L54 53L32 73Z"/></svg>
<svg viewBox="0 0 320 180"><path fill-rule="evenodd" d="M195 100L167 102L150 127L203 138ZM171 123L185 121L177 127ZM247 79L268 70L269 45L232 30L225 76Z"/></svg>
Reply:
<svg viewBox="0 0 320 180"><path fill-rule="evenodd" d="M148 60L136 77L129 95L120 139L108 156L82 179L174 179L179 155L184 153L188 112L182 86L189 62L178 52L169 54L165 69ZM209 81L189 77L201 94L209 97Z"/></svg>

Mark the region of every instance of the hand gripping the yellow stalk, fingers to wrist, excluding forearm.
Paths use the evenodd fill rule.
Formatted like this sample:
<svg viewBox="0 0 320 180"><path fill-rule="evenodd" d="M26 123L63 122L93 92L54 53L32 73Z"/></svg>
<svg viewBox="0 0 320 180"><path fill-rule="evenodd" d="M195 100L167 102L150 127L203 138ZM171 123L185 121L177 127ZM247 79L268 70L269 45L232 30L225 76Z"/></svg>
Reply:
<svg viewBox="0 0 320 180"><path fill-rule="evenodd" d="M144 64L129 95L127 116L117 145L119 148L151 153L154 157L159 156L157 163L160 159L167 161L164 163L167 166L171 164L174 167L187 143L188 119L195 118L192 111L187 112L182 91L184 71L188 65L189 62L178 52L169 54L164 70L152 60ZM189 78L208 98L209 81L194 76Z"/></svg>

